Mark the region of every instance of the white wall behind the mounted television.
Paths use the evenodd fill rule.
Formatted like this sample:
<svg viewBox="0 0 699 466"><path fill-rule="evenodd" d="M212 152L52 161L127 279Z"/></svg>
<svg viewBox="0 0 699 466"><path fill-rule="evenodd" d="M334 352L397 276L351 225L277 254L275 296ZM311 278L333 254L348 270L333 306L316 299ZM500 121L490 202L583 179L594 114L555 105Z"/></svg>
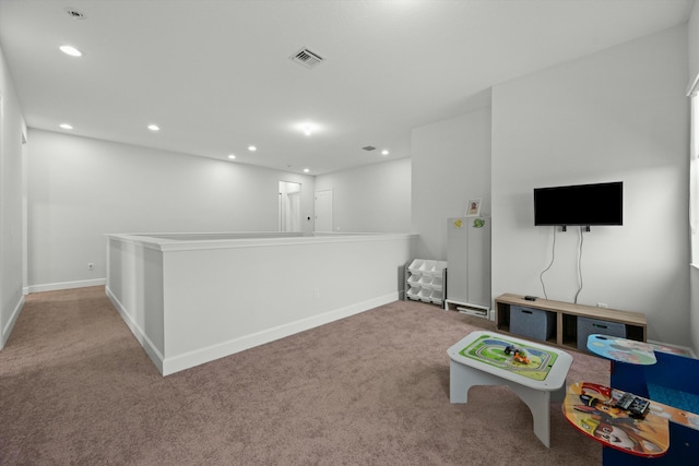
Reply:
<svg viewBox="0 0 699 466"><path fill-rule="evenodd" d="M624 226L584 235L579 303L648 316L650 339L689 345L687 27L493 88L493 294L542 296L553 227L535 187L624 181ZM578 232L559 234L550 299L578 290Z"/></svg>

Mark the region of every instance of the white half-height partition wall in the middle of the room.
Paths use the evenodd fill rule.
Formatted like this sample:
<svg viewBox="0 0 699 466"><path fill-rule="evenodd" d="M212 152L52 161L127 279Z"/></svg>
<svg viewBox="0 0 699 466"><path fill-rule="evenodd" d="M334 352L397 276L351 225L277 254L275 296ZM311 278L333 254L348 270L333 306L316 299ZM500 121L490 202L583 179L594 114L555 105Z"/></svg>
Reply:
<svg viewBox="0 0 699 466"><path fill-rule="evenodd" d="M415 240L325 235L185 244L115 235L107 295L167 375L395 301Z"/></svg>

